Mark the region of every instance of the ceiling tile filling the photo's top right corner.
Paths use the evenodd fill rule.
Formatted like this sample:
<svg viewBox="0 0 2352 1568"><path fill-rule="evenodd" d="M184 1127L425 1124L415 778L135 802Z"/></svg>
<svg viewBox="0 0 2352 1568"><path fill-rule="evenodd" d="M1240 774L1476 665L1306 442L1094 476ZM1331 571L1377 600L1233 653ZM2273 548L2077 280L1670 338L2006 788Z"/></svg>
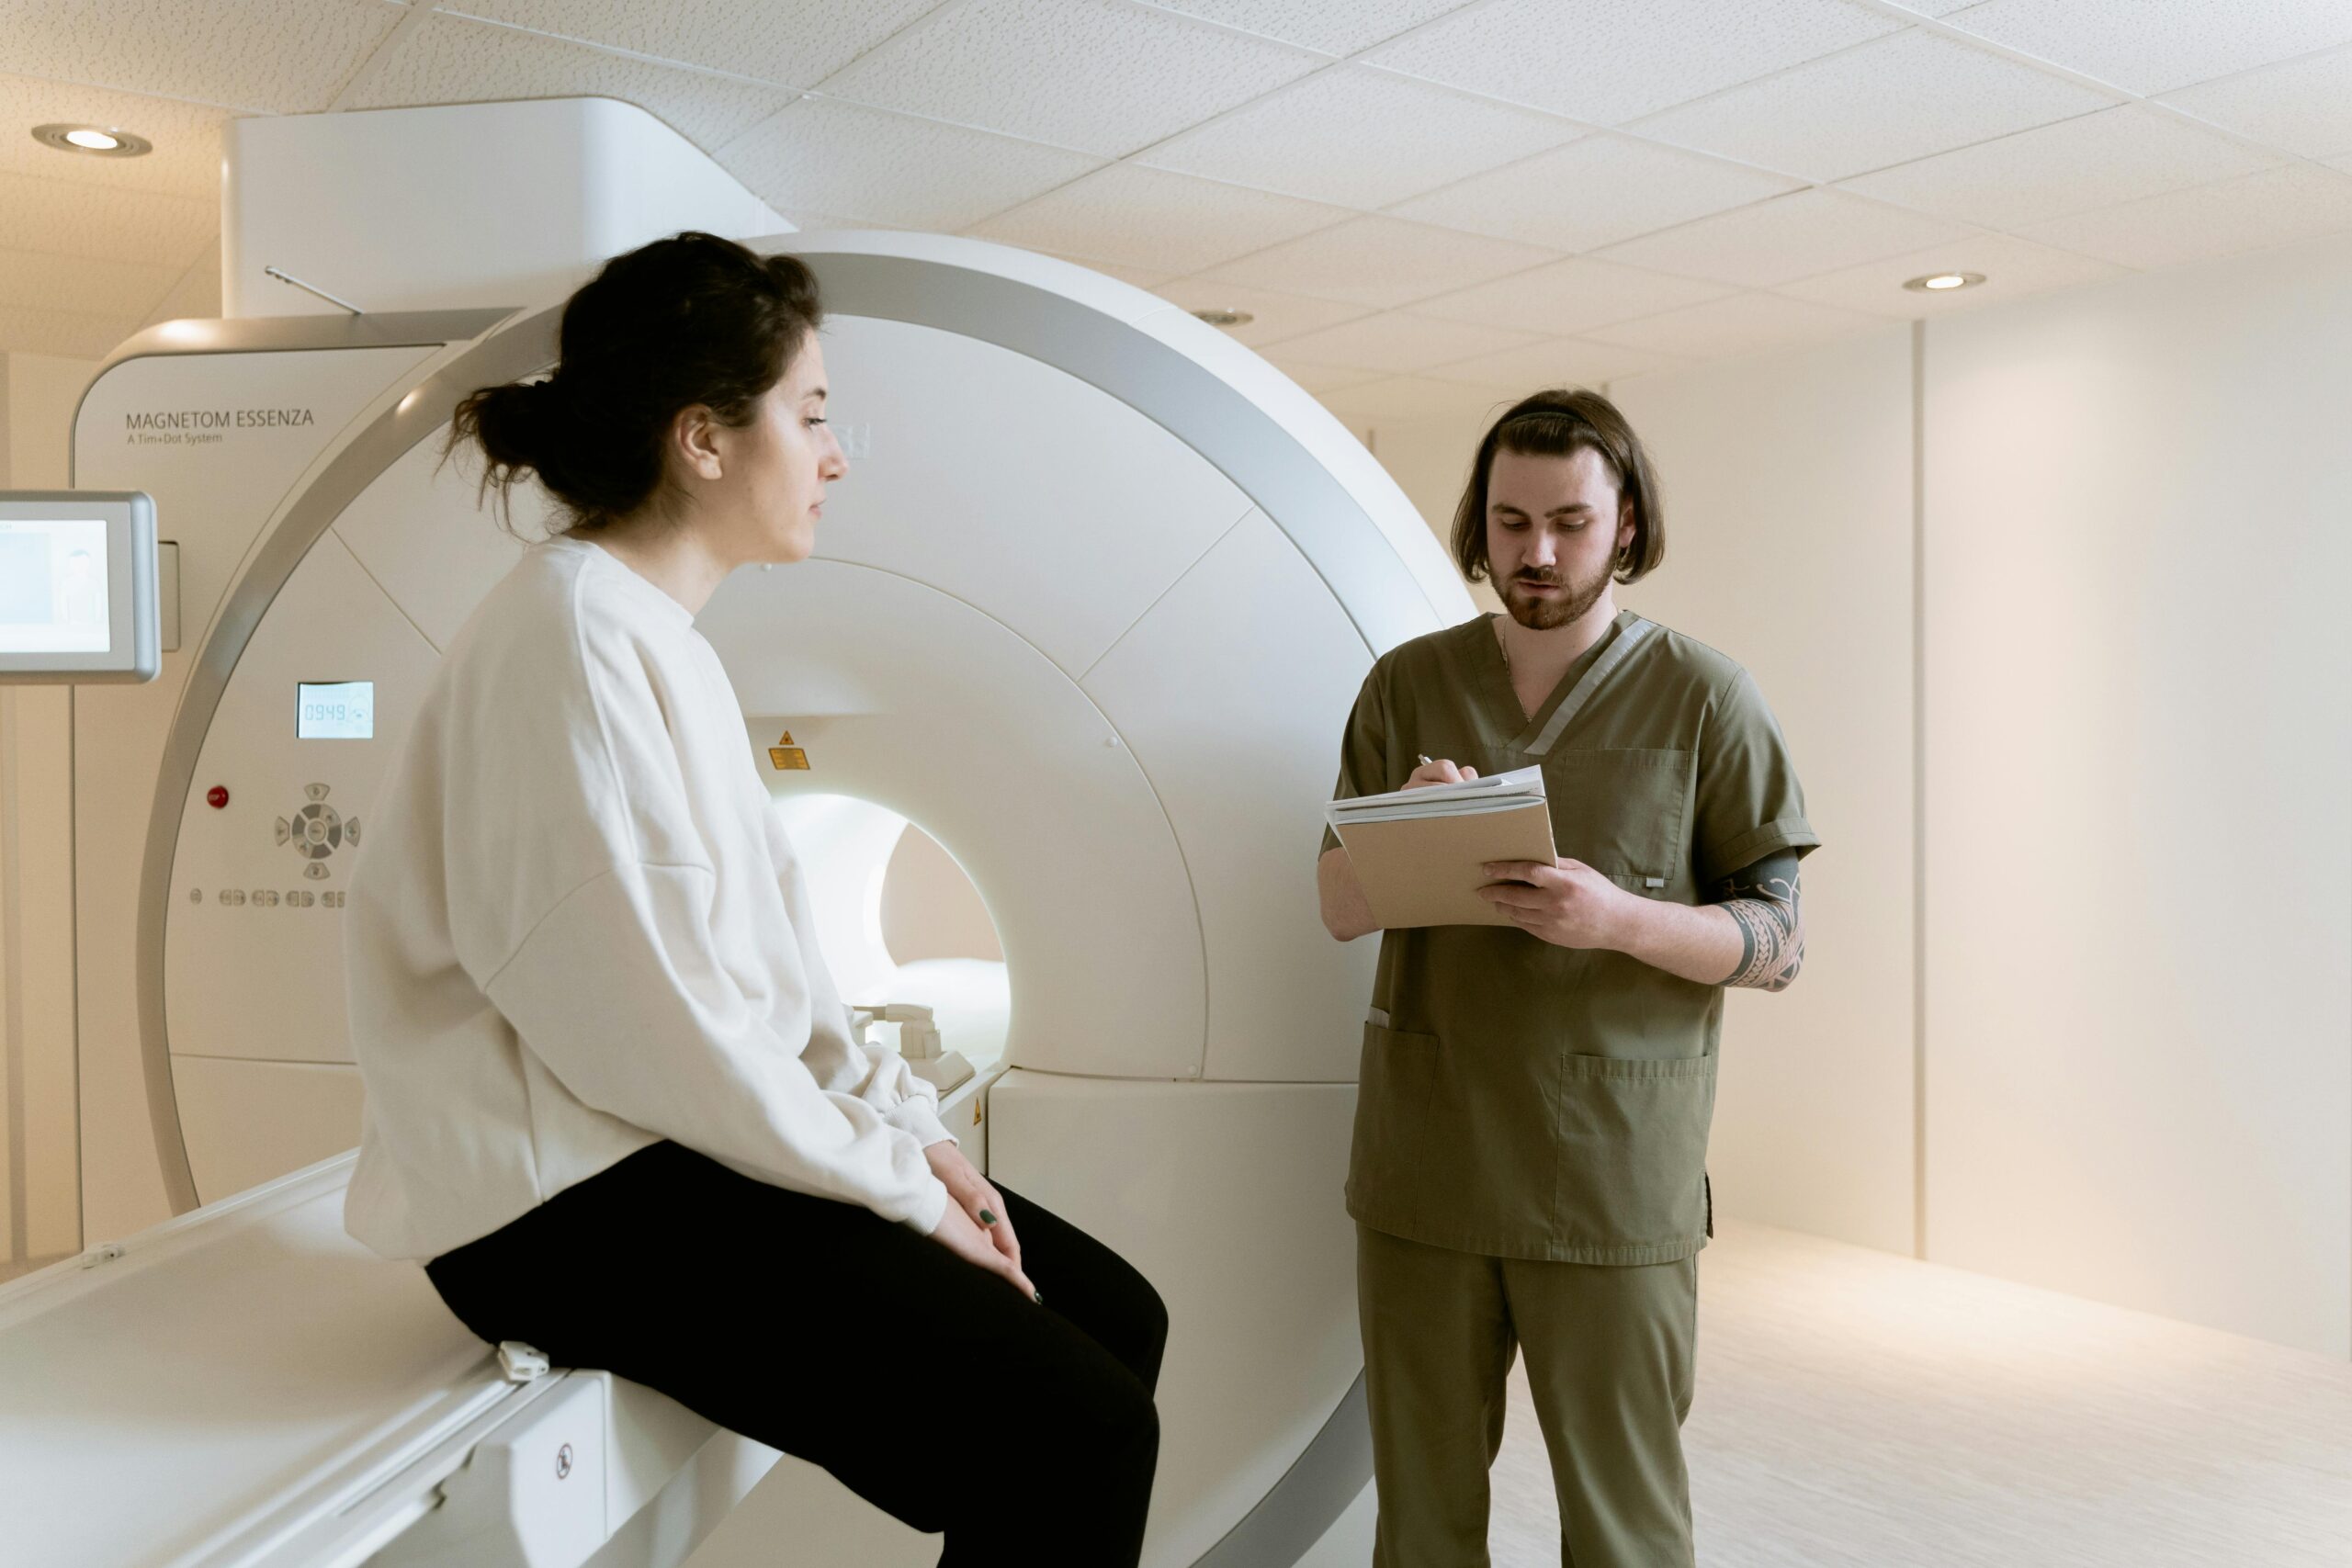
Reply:
<svg viewBox="0 0 2352 1568"><path fill-rule="evenodd" d="M2338 0L1985 0L1945 21L2140 94L2352 42Z"/></svg>

